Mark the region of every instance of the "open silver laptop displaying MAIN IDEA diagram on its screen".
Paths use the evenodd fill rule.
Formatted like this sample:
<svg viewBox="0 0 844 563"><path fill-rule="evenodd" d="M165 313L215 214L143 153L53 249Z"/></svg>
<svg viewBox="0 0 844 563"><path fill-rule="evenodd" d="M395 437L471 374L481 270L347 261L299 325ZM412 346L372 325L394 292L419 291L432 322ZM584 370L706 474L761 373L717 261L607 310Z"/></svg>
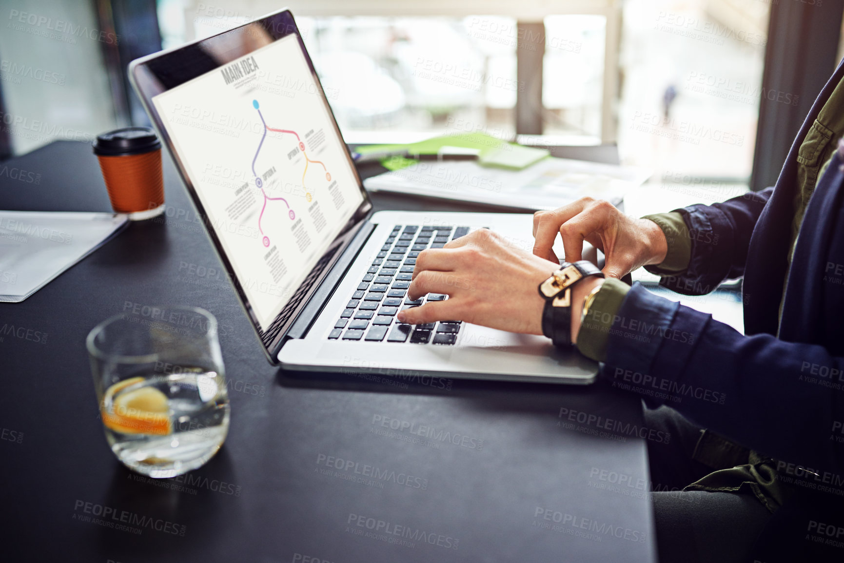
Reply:
<svg viewBox="0 0 844 563"><path fill-rule="evenodd" d="M285 370L587 384L548 338L412 326L416 257L490 228L528 252L530 214L381 211L354 168L289 10L133 61L164 139L268 360Z"/></svg>

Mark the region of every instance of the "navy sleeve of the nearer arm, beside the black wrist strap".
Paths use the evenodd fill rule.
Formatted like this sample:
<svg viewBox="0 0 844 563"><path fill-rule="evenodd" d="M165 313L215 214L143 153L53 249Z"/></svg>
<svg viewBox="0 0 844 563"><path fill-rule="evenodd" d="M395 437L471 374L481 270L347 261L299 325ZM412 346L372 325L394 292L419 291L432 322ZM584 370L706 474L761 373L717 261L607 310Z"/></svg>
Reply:
<svg viewBox="0 0 844 563"><path fill-rule="evenodd" d="M844 389L844 358L823 346L744 336L635 284L614 321L602 377L745 447L844 474L844 444L830 427L844 421L844 393L830 393Z"/></svg>

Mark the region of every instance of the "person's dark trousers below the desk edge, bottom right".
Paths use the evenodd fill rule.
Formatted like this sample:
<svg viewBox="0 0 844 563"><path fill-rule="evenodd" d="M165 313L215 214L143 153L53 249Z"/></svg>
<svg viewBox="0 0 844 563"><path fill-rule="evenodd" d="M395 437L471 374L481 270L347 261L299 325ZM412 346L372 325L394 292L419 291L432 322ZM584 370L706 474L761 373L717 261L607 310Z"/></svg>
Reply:
<svg viewBox="0 0 844 563"><path fill-rule="evenodd" d="M660 563L747 561L771 512L752 495L684 492L712 471L692 457L701 428L666 406L644 413L648 428L671 435L668 444L647 444Z"/></svg>

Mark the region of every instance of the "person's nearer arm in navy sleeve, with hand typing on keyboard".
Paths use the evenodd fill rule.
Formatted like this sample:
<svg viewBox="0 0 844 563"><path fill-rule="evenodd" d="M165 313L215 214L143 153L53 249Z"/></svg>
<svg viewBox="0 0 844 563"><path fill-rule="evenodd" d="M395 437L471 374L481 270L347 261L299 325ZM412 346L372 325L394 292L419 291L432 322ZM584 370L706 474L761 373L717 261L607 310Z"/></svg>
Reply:
<svg viewBox="0 0 844 563"><path fill-rule="evenodd" d="M398 320L456 319L542 334L538 284L559 267L477 230L419 253L408 297L444 293L449 299L401 311ZM589 288L614 283L620 282L590 277L575 284L573 339ZM587 319L592 314L590 308ZM668 403L769 456L844 474L844 445L830 440L834 421L844 420L844 395L830 392L830 384L844 386L844 358L822 346L743 336L634 284L612 316L605 353L603 376L615 387Z"/></svg>

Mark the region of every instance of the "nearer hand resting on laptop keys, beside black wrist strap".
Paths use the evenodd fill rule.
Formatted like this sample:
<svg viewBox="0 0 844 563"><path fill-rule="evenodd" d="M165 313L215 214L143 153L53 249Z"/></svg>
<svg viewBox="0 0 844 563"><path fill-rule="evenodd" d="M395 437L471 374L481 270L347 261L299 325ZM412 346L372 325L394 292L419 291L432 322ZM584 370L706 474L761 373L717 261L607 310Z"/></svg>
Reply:
<svg viewBox="0 0 844 563"><path fill-rule="evenodd" d="M400 322L465 321L513 333L542 334L545 300L538 285L560 269L480 229L443 248L419 252L408 298L449 295L398 313Z"/></svg>

